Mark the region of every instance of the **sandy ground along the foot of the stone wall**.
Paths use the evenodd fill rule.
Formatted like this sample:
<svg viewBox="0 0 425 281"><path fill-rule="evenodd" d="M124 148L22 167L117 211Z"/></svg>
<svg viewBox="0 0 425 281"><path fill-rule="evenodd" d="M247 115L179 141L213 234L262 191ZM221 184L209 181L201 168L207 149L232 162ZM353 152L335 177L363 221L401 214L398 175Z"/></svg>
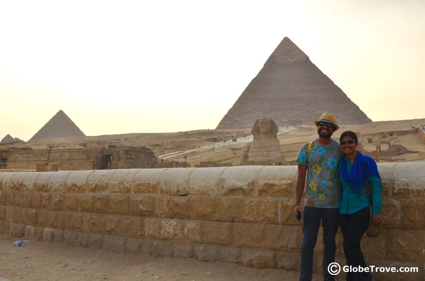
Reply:
<svg viewBox="0 0 425 281"><path fill-rule="evenodd" d="M199 262L71 247L20 240L0 234L0 281L3 280L298 280L298 272L246 268L236 264ZM316 274L317 275L317 274ZM323 277L322 277L323 278ZM321 280L314 276L314 280Z"/></svg>

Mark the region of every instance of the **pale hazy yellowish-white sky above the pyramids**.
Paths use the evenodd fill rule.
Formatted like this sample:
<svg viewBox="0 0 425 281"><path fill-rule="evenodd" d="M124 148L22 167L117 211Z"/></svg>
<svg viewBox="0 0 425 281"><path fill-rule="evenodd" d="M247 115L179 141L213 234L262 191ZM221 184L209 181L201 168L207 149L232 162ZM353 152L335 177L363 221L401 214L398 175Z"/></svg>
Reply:
<svg viewBox="0 0 425 281"><path fill-rule="evenodd" d="M425 1L3 1L0 139L213 129L287 36L373 121L425 118ZM321 101L326 102L326 101Z"/></svg>

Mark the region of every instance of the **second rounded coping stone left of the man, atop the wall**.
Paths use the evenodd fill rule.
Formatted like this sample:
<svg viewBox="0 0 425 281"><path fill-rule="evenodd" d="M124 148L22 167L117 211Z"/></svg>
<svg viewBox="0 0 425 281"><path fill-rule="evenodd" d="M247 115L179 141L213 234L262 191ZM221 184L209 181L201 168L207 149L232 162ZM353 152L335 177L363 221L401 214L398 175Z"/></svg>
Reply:
<svg viewBox="0 0 425 281"><path fill-rule="evenodd" d="M264 166L228 167L221 174L219 195L256 196L257 174Z"/></svg>

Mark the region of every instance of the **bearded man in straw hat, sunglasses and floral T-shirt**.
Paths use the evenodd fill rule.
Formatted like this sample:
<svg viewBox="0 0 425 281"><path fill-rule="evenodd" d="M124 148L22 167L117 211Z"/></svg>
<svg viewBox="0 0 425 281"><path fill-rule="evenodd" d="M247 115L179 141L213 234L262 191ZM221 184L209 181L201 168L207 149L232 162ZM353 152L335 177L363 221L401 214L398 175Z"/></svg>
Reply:
<svg viewBox="0 0 425 281"><path fill-rule="evenodd" d="M300 281L310 281L313 276L313 249L316 245L320 223L323 225L323 277L334 280L328 265L335 260L335 235L338 230L340 188L338 162L342 153L339 144L331 138L338 129L335 115L323 113L314 121L318 138L301 147L296 159L298 178L296 181L295 214L302 213L303 244L301 245ZM307 175L307 183L306 183ZM304 210L301 198L306 186Z"/></svg>

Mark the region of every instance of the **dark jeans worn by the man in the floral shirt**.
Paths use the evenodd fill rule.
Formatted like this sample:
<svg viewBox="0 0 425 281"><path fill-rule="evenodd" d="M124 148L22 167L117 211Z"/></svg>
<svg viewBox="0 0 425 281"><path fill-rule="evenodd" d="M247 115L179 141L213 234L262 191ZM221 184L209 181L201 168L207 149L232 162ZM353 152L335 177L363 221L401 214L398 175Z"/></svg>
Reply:
<svg viewBox="0 0 425 281"><path fill-rule="evenodd" d="M313 249L316 245L317 232L323 225L323 277L326 281L334 280L328 272L328 265L335 261L335 235L338 231L338 208L304 207L303 244L301 245L300 281L310 281L313 277Z"/></svg>

